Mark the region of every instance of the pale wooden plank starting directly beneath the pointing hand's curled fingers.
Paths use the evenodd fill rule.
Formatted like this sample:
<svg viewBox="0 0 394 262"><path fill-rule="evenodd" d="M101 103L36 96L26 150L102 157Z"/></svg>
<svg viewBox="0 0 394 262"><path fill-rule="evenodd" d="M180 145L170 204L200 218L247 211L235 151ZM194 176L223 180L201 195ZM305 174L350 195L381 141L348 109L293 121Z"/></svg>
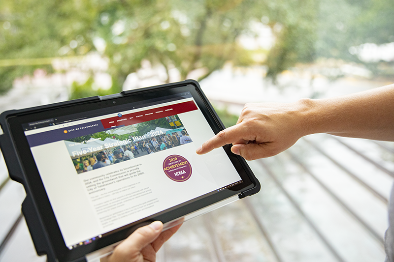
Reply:
<svg viewBox="0 0 394 262"><path fill-rule="evenodd" d="M294 149L296 150L296 147ZM306 149L306 151L296 150L304 161L315 154L310 152L310 148L306 147ZM384 260L383 246L324 192L312 177L305 174L296 163L285 156L286 154L280 154L266 161L274 168L284 189L295 199L305 215L313 221L334 249L346 261ZM320 162L316 164L319 165ZM323 175L329 178L329 174L323 173ZM335 177L332 177L332 180L335 181ZM383 215L383 218L385 217Z"/></svg>

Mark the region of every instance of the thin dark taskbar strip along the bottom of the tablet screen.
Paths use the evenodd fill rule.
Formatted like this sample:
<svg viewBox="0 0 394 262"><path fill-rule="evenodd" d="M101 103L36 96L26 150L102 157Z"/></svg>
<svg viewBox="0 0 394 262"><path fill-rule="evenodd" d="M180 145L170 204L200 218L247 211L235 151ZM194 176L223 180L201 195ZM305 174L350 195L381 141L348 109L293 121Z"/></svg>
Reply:
<svg viewBox="0 0 394 262"><path fill-rule="evenodd" d="M207 193L207 194L205 194L205 195L203 195L203 196L200 196L200 197L198 197L198 198L196 198L196 199L193 199L193 200L191 200L191 201L196 201L196 200L199 200L199 199L201 199L201 198L203 198L203 197L207 197L207 196L210 196L210 195L212 195L212 194L216 194L217 192L221 192L221 191L223 191L223 190L230 189L231 187L234 187L234 186L236 186L236 185L239 185L239 184L241 184L242 182L243 182L242 180L236 181L236 182L234 182L234 183L231 183L231 184L228 184L228 185L223 186L223 187L221 187L221 188L218 188L218 189L215 190L215 191L209 192L209 193ZM157 215L163 214L164 212L170 211L171 209L174 209L174 208L178 208L178 207L180 207L180 206L182 206L182 205L184 205L184 204L187 204L187 203L189 203L189 202L191 202L191 201L188 201L188 202L186 202L186 203L182 203L182 204L180 204L180 205L177 205L177 206L174 206L174 207L172 207L172 208L166 209L166 210L164 210L164 211L162 211L162 212L159 212L159 213L156 213L156 214L154 214L154 215L152 215L152 216L150 216L150 217L147 217L146 219L148 220L148 219L151 218L151 217L155 217L155 216L157 216ZM144 219L144 220L145 220L145 219ZM129 228L129 227L131 227L131 226L133 226L133 225L135 225L136 223L139 223L139 222L141 222L141 221L132 222L132 223L130 223L130 224L127 224L127 225L125 225L125 226L123 226L123 227L120 227L120 228L117 228L117 229L115 229L115 230L111 230L111 231L109 231L109 232L102 233L102 234L99 234L99 235L94 236L94 237L92 237L92 238L83 240L83 241L81 241L81 242L79 242L79 243L77 243L77 244L74 244L74 245L71 245L71 246L67 246L67 248L68 248L69 250L72 250L72 249L75 249L75 248L78 248L78 247L81 247L81 246L86 246L86 245L88 245L88 244L90 244L90 243L92 243L92 242L94 242L94 241L96 241L96 240L98 240L98 239L100 239L100 238L102 238L102 237L104 237L104 236L107 236L107 235L110 235L110 234L119 232L119 231L121 231L121 230L123 230L123 229L126 229L126 228Z"/></svg>

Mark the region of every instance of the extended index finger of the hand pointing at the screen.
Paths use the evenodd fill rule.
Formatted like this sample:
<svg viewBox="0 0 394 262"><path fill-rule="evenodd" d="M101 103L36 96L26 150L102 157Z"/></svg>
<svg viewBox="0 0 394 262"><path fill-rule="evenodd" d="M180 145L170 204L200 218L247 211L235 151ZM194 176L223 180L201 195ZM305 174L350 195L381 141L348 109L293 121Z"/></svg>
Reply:
<svg viewBox="0 0 394 262"><path fill-rule="evenodd" d="M236 124L220 131L218 134L216 134L216 136L203 143L197 148L196 153L199 155L206 154L215 148L219 148L234 142L239 142L243 140L244 135L244 131L241 128L241 123Z"/></svg>

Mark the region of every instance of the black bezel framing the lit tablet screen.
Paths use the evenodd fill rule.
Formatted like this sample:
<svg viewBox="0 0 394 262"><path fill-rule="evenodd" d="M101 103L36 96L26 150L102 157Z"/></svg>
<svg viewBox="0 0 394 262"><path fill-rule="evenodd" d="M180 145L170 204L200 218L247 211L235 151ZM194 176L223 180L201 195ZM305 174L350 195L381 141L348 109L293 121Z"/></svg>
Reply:
<svg viewBox="0 0 394 262"><path fill-rule="evenodd" d="M117 108L119 105L130 105L131 103L136 103L142 100L155 99L168 96L170 94L179 94L188 91L191 92L198 108L201 110L201 113L205 117L212 131L215 134L220 132L223 129L222 123L216 116L216 113L213 111L211 105L206 100L200 88L193 85L192 83L177 83L173 86L141 88L131 92L123 92L121 93L122 96L120 97L114 97L105 100L98 98L97 100L91 101L76 101L75 104L66 106L57 106L55 104L52 107L47 107L45 109L32 109L31 111L24 111L21 114L16 113L7 117L7 123L11 131L10 135L16 147L18 158L23 160L20 161L20 163L25 174L25 187L28 187L29 189L27 192L29 191L31 194L36 209L40 215L40 219L44 224L45 231L48 234L52 249L59 261L75 260L100 248L116 243L126 238L130 233L132 233L132 231L137 229L141 223L146 224L147 222L155 220L161 220L162 222L166 223L168 221L183 217L208 205L215 204L232 196L238 195L245 190L255 187L255 178L247 166L245 160L231 153L230 146L224 146L231 163L240 175L243 183L231 187L230 189L222 190L210 196L198 197L184 204L180 204L162 212L156 213L150 217L146 217L142 220L124 226L116 233L112 233L110 235L104 234L102 238L88 245L83 245L76 249L69 250L66 247L54 211L45 192L44 185L35 165L33 155L30 151L30 146L27 142L26 136L24 135L22 124L48 119L51 117L66 116L94 110L107 110L105 114L103 113L103 115L106 115L108 114L108 111L110 111L109 113L112 113L111 109L116 112L117 110L115 108Z"/></svg>

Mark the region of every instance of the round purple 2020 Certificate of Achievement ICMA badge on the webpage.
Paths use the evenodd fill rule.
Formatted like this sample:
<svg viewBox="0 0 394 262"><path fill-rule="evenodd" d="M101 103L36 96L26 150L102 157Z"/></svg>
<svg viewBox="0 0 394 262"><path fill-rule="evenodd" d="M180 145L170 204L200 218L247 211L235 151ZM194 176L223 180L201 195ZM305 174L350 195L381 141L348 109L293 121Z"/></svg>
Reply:
<svg viewBox="0 0 394 262"><path fill-rule="evenodd" d="M192 175L192 166L180 155L167 156L163 162L163 170L169 179L177 182L184 182Z"/></svg>

